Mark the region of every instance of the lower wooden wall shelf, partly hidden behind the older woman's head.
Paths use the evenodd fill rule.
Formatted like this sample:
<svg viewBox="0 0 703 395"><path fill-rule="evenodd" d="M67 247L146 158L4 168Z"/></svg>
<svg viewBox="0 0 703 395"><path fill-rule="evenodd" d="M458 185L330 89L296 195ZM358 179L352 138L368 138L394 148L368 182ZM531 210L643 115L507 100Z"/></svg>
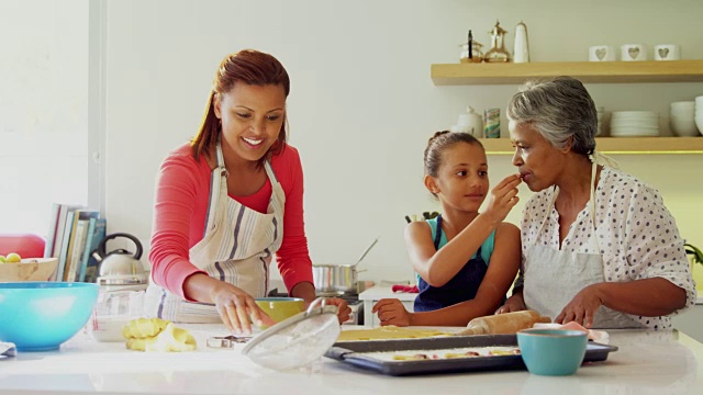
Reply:
<svg viewBox="0 0 703 395"><path fill-rule="evenodd" d="M509 138L481 138L487 154L513 155ZM701 137L598 137L595 148L604 154L703 154Z"/></svg>

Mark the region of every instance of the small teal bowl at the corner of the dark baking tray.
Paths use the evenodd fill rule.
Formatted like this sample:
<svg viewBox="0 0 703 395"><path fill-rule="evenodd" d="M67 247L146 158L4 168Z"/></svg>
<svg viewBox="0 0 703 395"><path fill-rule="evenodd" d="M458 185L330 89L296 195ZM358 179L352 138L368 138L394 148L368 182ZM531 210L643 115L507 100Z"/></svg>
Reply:
<svg viewBox="0 0 703 395"><path fill-rule="evenodd" d="M529 373L570 375L583 362L588 335L580 330L525 329L517 346Z"/></svg>

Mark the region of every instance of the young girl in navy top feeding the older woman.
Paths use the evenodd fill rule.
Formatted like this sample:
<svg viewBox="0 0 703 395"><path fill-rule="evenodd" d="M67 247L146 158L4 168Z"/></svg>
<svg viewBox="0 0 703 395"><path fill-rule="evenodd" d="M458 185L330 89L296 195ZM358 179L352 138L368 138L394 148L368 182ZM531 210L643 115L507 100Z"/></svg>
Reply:
<svg viewBox="0 0 703 395"><path fill-rule="evenodd" d="M506 177L479 213L489 192L483 146L466 133L435 133L425 149L424 183L443 214L405 228L420 274L415 313L395 298L381 300L372 309L381 325L465 326L495 312L520 267L520 229L503 223L520 182L520 174Z"/></svg>

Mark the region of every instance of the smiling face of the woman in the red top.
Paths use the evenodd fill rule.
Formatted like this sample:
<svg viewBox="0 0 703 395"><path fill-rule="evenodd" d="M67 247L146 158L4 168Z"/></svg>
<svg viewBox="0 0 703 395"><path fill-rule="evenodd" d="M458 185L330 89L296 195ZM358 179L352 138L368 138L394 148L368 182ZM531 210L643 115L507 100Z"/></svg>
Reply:
<svg viewBox="0 0 703 395"><path fill-rule="evenodd" d="M237 83L215 94L215 116L222 121L222 145L246 161L258 161L276 143L286 115L282 86Z"/></svg>

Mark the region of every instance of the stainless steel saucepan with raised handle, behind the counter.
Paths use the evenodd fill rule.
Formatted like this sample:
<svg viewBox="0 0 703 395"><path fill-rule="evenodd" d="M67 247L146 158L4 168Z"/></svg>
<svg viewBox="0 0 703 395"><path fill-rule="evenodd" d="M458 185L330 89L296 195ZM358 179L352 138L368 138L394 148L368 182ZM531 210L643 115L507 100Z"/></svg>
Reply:
<svg viewBox="0 0 703 395"><path fill-rule="evenodd" d="M312 275L315 282L315 291L320 294L343 294L347 292L358 292L357 273L365 270L357 270L356 267L378 242L378 237L371 241L364 253L354 264L321 264L312 266Z"/></svg>

